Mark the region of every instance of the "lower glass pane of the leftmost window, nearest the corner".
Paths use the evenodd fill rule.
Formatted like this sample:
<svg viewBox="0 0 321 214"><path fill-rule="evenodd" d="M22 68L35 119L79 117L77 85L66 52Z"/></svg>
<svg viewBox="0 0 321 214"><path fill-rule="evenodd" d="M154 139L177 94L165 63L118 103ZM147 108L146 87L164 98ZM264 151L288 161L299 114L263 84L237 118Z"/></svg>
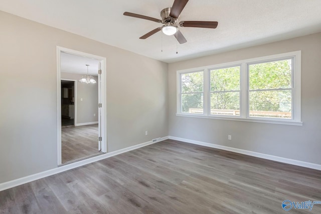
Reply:
<svg viewBox="0 0 321 214"><path fill-rule="evenodd" d="M182 112L203 114L203 93L182 94Z"/></svg>

